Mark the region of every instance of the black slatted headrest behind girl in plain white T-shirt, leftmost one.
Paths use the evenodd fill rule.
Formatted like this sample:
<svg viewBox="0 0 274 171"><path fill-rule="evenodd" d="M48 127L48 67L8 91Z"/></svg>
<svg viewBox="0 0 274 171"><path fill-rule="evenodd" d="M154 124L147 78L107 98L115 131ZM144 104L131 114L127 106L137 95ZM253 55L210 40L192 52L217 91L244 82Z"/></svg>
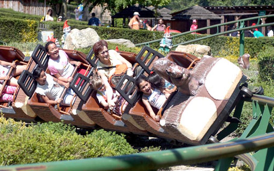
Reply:
<svg viewBox="0 0 274 171"><path fill-rule="evenodd" d="M23 70L17 82L24 93L27 96L32 97L37 85L37 82L33 79L32 73Z"/></svg>

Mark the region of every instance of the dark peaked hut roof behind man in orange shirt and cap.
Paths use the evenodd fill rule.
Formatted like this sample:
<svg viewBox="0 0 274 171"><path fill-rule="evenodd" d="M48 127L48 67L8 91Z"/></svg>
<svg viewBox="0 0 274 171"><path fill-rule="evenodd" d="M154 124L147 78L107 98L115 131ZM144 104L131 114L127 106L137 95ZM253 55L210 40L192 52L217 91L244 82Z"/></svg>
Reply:
<svg viewBox="0 0 274 171"><path fill-rule="evenodd" d="M143 7L142 5L135 4L130 6L129 8L124 9L121 12L116 13L111 16L112 18L129 18L133 17L134 12L139 12L140 18L154 18L154 11Z"/></svg>

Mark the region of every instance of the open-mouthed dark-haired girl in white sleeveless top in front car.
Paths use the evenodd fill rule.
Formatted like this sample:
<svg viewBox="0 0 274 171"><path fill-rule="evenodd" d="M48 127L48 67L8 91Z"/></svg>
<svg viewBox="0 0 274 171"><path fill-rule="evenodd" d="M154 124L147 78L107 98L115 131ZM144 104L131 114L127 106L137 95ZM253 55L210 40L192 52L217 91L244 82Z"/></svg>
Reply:
<svg viewBox="0 0 274 171"><path fill-rule="evenodd" d="M148 81L148 78L144 75L141 75L136 80L136 85L138 89L143 92L142 95L142 101L145 104L145 107L147 108L149 115L154 119L155 121L160 121L160 116L157 116L152 107L155 107L157 109L160 109L165 101L167 100L168 94L167 92L161 92L160 90L154 88L151 86L150 82ZM164 94L165 93L165 94Z"/></svg>

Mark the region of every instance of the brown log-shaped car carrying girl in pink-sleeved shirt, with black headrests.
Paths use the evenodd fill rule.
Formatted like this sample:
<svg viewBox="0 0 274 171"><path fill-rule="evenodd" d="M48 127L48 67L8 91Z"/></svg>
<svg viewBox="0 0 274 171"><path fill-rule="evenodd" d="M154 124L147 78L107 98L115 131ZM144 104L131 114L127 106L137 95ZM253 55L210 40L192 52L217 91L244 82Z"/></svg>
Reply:
<svg viewBox="0 0 274 171"><path fill-rule="evenodd" d="M80 67L75 67L71 76L74 76L80 69L84 71L83 74L86 76L90 76L92 74L92 67L86 61L86 55L79 51L73 50L64 50L68 57L74 61L80 61ZM32 59L36 63L36 67L42 67L46 73L49 73L47 69L49 56L45 52L45 48L42 45L37 45ZM53 106L51 104L45 103L39 96L35 93L37 82L33 79L32 76L33 70L25 70L19 79L19 85L24 90L26 94L28 94L31 98L28 100L27 104L31 107L31 109L44 121L52 121L52 122L61 122L64 120L64 123L72 124L79 127L93 127L95 123L92 120L85 120L85 115L78 115L72 112L73 106L77 108L80 103L80 99L77 98L77 95L74 95L73 100L70 102L70 105L61 105L57 104ZM29 81L28 81L29 80ZM82 82L77 81L77 85L82 85ZM76 84L70 84L70 87L75 87ZM63 90L63 93L60 98L64 97L66 89ZM81 117L83 119L81 119Z"/></svg>

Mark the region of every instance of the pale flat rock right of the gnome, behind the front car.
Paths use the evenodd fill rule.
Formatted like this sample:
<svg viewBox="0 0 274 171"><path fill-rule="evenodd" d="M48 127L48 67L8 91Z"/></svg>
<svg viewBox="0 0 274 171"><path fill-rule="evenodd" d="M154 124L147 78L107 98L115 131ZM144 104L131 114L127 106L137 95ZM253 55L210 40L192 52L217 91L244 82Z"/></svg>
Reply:
<svg viewBox="0 0 274 171"><path fill-rule="evenodd" d="M202 57L203 55L210 55L210 47L206 45L179 45L176 51L194 54L197 57Z"/></svg>

